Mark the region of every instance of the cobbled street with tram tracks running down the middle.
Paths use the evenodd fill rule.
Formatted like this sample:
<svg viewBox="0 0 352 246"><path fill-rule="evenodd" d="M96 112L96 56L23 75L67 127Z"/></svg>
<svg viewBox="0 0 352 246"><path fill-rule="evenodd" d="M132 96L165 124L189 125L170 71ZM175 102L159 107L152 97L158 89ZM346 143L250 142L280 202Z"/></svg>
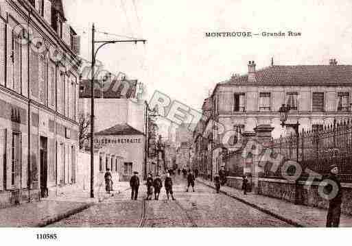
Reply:
<svg viewBox="0 0 352 246"><path fill-rule="evenodd" d="M49 227L290 227L240 201L196 183L196 191L185 192L186 180L174 181L176 201L167 201L165 189L159 201L145 201L145 186L139 200L130 200L130 190L110 197Z"/></svg>

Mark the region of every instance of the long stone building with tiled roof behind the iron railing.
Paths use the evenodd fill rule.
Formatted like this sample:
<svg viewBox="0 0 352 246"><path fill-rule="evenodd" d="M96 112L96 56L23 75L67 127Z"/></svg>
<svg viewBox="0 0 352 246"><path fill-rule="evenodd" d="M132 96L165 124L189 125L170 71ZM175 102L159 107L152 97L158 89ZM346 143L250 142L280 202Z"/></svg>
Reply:
<svg viewBox="0 0 352 246"><path fill-rule="evenodd" d="M272 65L259 70L254 61L248 62L246 75L233 75L215 86L209 98L211 113L198 124L198 135L211 145L212 172L221 166L224 151L239 147L242 134L257 125L274 127L273 138L291 134L280 125L283 103L291 106L287 123L300 123L300 131L350 117L351 82L352 65L338 65L335 59L327 65ZM229 138L220 134L230 130Z"/></svg>

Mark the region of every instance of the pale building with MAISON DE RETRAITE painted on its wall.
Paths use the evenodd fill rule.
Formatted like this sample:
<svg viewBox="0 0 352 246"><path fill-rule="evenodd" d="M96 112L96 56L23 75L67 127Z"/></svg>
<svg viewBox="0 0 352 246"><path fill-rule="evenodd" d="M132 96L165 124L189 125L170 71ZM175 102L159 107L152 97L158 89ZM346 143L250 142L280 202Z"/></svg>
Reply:
<svg viewBox="0 0 352 246"><path fill-rule="evenodd" d="M89 80L80 82L80 114L91 114ZM146 171L145 101L136 98L137 81L95 80L95 149L99 151L99 172L107 167L127 181L132 171L144 177ZM104 88L105 86L105 88ZM90 131L90 130L89 130ZM85 143L89 149L89 141Z"/></svg>

